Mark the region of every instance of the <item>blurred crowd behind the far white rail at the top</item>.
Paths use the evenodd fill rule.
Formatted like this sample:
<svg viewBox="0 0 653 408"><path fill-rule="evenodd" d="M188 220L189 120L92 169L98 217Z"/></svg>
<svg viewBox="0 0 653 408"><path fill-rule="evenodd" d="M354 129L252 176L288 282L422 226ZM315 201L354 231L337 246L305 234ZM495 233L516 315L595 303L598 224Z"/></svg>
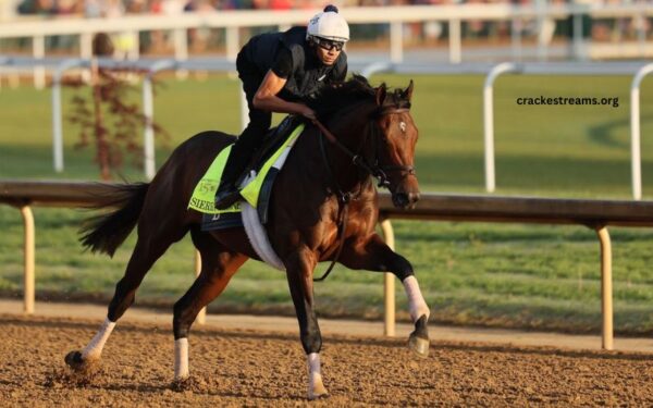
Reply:
<svg viewBox="0 0 653 408"><path fill-rule="evenodd" d="M535 4L540 1L547 4L565 3L600 3L600 4L632 4L651 3L653 0L13 0L15 15L22 18L32 17L87 17L87 18L118 18L134 14L178 15L186 12L214 12L218 10L292 10L292 9L321 9L326 3L338 7L383 7L383 5L410 5L410 4L461 4L461 3L509 3L515 5ZM589 18L589 17L588 17ZM624 38L637 38L638 33L645 33L650 37L652 29L651 18L607 18L586 20L582 25L584 37L596 40L620 41ZM550 42L554 37L571 36L572 22L567 20L549 20L537 22L534 20L520 20L514 26L508 21L465 21L463 23L463 37L465 39L484 38L494 40L509 40L510 33L519 29L523 36L538 36L543 42ZM252 28L255 32L257 28ZM357 40L378 40L386 36L387 27L383 25L352 26L353 37ZM448 37L446 22L409 23L404 26L405 40L438 41ZM115 38L119 48L130 48L131 44L138 44L141 51L164 51L170 48L169 36L161 33L140 33L138 39ZM205 28L188 30L188 40L192 48L201 51L207 47L223 42L223 35ZM49 46L57 42L60 47L73 46L72 39L56 38L49 40ZM120 44L123 44L122 47Z"/></svg>

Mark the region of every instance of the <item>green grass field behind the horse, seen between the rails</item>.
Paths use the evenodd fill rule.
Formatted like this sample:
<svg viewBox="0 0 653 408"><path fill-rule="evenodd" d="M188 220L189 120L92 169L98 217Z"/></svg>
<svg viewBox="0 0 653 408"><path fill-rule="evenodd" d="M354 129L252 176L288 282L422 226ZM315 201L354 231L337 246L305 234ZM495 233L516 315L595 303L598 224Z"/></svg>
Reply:
<svg viewBox="0 0 653 408"><path fill-rule="evenodd" d="M405 86L408 77L387 75ZM423 190L482 193L483 78L417 76L414 118L420 128L416 152ZM207 82L167 81L156 98L156 118L171 133L158 146L160 164L171 149L206 128L236 132L238 83L226 76ZM497 193L546 197L630 198L628 77L506 76L495 86ZM519 107L517 97L618 97L612 107ZM653 198L653 83L642 87L642 174L645 198ZM70 92L64 99L70 98ZM73 148L66 125L65 172L54 174L51 159L50 95L30 88L0 92L0 178L96 180L91 151ZM138 169L121 172L141 180ZM50 298L104 301L122 276L132 236L113 259L82 251L76 242L83 211L35 210L37 294ZM597 332L601 323L600 254L594 232L581 226L497 225L449 222L395 222L397 250L415 265L433 320ZM0 207L0 292L22 287L22 222ZM621 333L653 333L653 273L649 230L611 228L614 251L615 327ZM193 282L188 239L156 264L137 301L171 305ZM321 265L321 273L326 265ZM336 268L316 285L321 316L378 318L382 279ZM399 314L405 296L397 285ZM213 311L293 313L285 276L248 262Z"/></svg>

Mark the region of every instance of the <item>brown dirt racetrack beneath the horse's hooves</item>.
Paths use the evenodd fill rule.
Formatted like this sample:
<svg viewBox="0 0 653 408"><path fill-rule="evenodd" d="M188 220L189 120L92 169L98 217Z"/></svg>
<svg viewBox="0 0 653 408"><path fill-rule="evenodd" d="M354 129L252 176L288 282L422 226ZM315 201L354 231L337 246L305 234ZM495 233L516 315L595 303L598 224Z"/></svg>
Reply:
<svg viewBox="0 0 653 408"><path fill-rule="evenodd" d="M198 327L193 382L171 390L169 325L121 323L84 382L63 357L99 322L0 316L0 406L653 406L653 355L434 342L426 360L405 339L324 336L331 397L308 403L296 335Z"/></svg>

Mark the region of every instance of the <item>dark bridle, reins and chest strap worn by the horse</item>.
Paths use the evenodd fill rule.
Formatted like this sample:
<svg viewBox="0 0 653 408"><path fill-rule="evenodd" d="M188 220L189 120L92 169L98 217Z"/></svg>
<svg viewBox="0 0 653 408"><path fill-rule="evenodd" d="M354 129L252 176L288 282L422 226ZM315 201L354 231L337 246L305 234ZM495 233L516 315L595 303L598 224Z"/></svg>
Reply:
<svg viewBox="0 0 653 408"><path fill-rule="evenodd" d="M409 108L384 107L384 108L378 110L373 114L373 116L380 118L380 116L387 115L387 114L398 114L398 113L405 113L405 112L409 112L409 111L410 111ZM334 193L337 195L338 201L341 201L343 203L343 207L342 207L343 211L341 213L338 226L337 226L340 230L340 234L338 234L340 245L338 245L337 251L335 252L335 257L333 258L333 261L331 261L331 264L329 265L326 271L322 274L322 276L313 277L313 282L321 282L321 281L324 281L326 279L326 276L329 276L329 274L333 270L333 267L335 267L335 262L337 262L337 260L341 256L341 252L342 252L344 244L345 244L344 238L345 238L347 213L348 213L348 209L349 209L349 201L352 201L353 199L356 199L356 196L357 196L357 195L353 194L352 191L343 191L341 186L337 184L337 180L335 178L335 175L334 175L333 171L331 170L331 164L329 164L329 159L326 158L326 149L324 148L324 137L326 137L326 139L332 145L337 147L347 157L349 157L349 159L352 160L352 163L354 163L354 165L356 165L359 169L362 169L368 174L370 174L374 178L377 178L377 181L379 182L379 187L386 187L387 189L390 189L390 180L387 178L389 172L402 172L402 173L405 173L406 175L415 175L415 166L414 165L397 165L397 164L393 164L393 165L380 165L379 164L379 149L378 149L379 136L377 134L378 126L372 127L372 131L370 132L370 133L373 133L372 141L374 143L374 149L373 149L374 150L374 159L373 159L374 162L373 162L373 164L370 164L370 163L368 163L366 158L360 152L354 153L352 150L349 150L348 147L343 145L343 143L340 141L333 135L333 133L331 133L322 123L320 123L320 121L315 120L315 121L312 121L312 123L320 129L320 151L322 153L322 160L324 161L326 171L329 172L329 175L331 176L331 180L333 181L333 184L335 186ZM322 136L324 136L324 137L322 137ZM366 141L367 141L367 136L364 138L362 143L360 144L359 151L361 151L364 149ZM361 190L362 190L362 187L358 191L358 195L360 195Z"/></svg>

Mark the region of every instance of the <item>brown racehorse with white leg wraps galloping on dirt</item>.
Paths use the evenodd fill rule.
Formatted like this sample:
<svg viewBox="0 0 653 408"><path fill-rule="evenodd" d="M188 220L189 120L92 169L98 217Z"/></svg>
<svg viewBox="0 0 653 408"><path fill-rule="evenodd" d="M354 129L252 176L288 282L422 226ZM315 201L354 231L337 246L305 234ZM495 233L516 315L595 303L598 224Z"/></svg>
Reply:
<svg viewBox="0 0 653 408"><path fill-rule="evenodd" d="M312 274L320 261L337 257L350 269L394 273L405 286L415 322L409 346L421 357L428 354L429 308L412 267L374 232L379 209L372 175L390 188L396 207L409 208L419 199L412 168L418 131L409 111L411 94L412 82L406 89L389 91L385 84L373 88L360 76L324 89L311 107L325 127L305 128L273 187L266 227L286 269L308 358L310 399L326 395L320 373L322 338L313 310ZM336 139L325 141L329 131ZM233 136L223 133L200 133L174 150L151 183L116 187L102 205L119 209L95 219L83 244L113 255L136 224L138 240L100 331L83 350L66 356L73 369L87 368L100 358L145 274L171 244L190 231L201 255L201 273L174 305L173 319L174 379L188 378L187 337L197 313L222 293L247 259L259 259L244 228L202 232L201 214L187 209L194 187L213 158L233 141Z"/></svg>

